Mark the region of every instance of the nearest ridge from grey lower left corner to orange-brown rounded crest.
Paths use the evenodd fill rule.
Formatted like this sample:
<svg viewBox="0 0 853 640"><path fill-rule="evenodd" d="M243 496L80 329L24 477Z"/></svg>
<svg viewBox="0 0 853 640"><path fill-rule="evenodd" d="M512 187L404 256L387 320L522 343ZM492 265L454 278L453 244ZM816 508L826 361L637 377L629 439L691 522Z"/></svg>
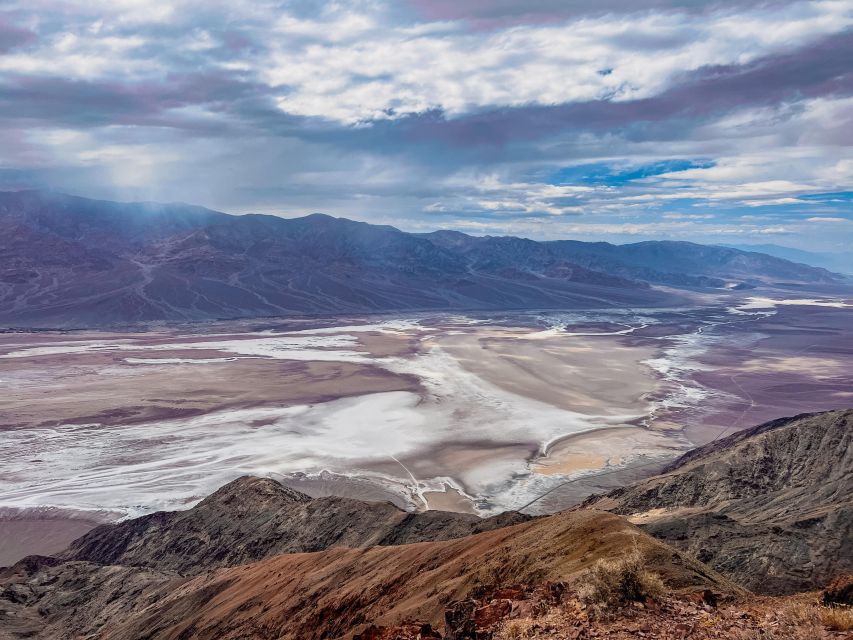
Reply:
<svg viewBox="0 0 853 640"><path fill-rule="evenodd" d="M675 591L737 585L599 511L566 512L455 540L333 547L182 576L91 561L25 559L0 577L7 637L344 638L370 624L442 626L484 585L568 582L638 549Z"/></svg>

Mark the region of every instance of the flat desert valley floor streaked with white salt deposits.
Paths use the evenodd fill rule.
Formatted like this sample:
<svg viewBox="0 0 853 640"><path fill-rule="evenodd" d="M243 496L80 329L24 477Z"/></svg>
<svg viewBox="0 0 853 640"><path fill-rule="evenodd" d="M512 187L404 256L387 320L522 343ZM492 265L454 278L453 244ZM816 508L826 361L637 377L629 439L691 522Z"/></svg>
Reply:
<svg viewBox="0 0 853 640"><path fill-rule="evenodd" d="M850 406L851 307L732 295L5 333L0 565L243 474L409 509L557 511L741 427Z"/></svg>

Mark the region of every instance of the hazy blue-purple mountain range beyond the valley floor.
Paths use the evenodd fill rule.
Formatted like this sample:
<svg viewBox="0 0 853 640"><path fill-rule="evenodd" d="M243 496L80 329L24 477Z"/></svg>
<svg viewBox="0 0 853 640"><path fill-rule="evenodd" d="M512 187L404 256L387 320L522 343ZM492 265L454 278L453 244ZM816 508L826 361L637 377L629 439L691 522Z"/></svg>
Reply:
<svg viewBox="0 0 853 640"><path fill-rule="evenodd" d="M668 306L675 288L832 284L829 271L681 242L405 233L322 214L0 192L0 323L106 326L291 314Z"/></svg>

